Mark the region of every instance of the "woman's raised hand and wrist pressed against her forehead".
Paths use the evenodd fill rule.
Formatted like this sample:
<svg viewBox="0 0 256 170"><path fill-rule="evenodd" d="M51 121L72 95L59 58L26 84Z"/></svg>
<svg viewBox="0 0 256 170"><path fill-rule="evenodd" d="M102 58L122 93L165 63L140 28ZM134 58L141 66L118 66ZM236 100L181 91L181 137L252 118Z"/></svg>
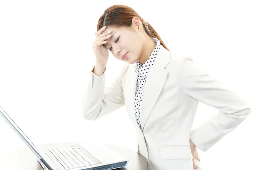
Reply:
<svg viewBox="0 0 256 170"><path fill-rule="evenodd" d="M104 44L106 43L106 39L108 39L109 37L107 37L108 32L104 32L106 27L102 27L99 29L99 31L95 31L96 34L96 40L93 42L93 52L95 54L96 57L96 62L102 65L106 65L108 62L108 57L109 57L109 51L108 49L104 46Z"/></svg>

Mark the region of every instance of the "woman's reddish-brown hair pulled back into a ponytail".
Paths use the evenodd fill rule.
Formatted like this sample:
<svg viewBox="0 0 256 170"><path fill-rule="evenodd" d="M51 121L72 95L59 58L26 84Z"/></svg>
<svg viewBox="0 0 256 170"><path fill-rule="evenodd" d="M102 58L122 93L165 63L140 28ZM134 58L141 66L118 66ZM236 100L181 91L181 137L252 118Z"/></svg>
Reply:
<svg viewBox="0 0 256 170"><path fill-rule="evenodd" d="M130 27L132 25L132 19L133 17L138 17L143 23L143 27L148 34L148 36L152 38L157 38L160 40L160 44L163 45L164 48L166 48L168 51L169 49L166 47L166 45L163 43L160 36L157 34L157 31L154 30L154 28L148 23L148 28L146 26L145 20L140 17L139 14L137 14L136 11L134 11L133 8L125 5L113 5L109 8L107 8L104 13L99 17L98 25L97 25L97 31L99 31L100 28L104 26L126 26Z"/></svg>

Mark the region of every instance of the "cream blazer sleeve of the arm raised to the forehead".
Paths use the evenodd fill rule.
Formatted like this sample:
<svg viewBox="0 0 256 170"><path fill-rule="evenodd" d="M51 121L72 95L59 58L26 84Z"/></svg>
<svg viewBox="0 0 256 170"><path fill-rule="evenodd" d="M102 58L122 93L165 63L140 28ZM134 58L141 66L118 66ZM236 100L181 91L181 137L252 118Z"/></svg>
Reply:
<svg viewBox="0 0 256 170"><path fill-rule="evenodd" d="M105 68L102 75L97 76L93 73L93 66L82 99L81 114L84 119L99 119L125 105L122 75L127 68L128 66L125 65L113 82L105 87L105 77L108 68Z"/></svg>

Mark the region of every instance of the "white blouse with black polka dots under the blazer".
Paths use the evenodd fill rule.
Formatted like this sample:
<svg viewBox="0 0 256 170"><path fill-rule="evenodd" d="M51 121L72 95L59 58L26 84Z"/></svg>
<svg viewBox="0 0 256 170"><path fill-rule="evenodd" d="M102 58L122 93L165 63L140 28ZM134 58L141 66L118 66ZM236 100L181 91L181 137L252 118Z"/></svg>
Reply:
<svg viewBox="0 0 256 170"><path fill-rule="evenodd" d="M147 79L148 72L150 71L151 67L154 64L154 61L157 57L158 52L160 51L160 40L157 38L152 39L154 43L157 45L151 55L148 57L148 60L142 64L141 62L137 61L134 67L134 71L138 74L137 85L136 85L136 93L134 99L134 106L135 106L135 116L137 119L137 123L141 130L140 124L140 104L143 99L143 92L144 87Z"/></svg>

